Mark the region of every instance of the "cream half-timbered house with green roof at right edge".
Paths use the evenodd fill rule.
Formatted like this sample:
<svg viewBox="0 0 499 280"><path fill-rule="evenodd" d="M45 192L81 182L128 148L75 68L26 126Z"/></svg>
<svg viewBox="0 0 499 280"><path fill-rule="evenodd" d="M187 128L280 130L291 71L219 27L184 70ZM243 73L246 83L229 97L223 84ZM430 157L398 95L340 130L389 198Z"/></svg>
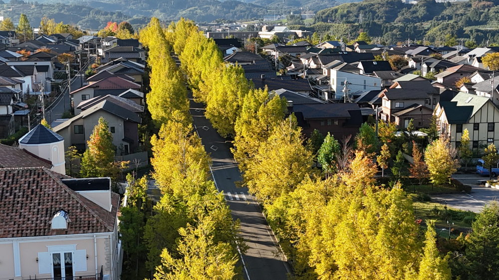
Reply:
<svg viewBox="0 0 499 280"><path fill-rule="evenodd" d="M489 98L460 92L451 101L440 102L435 113L441 134L450 137L453 147L459 145L465 129L473 149L499 145L499 110Z"/></svg>

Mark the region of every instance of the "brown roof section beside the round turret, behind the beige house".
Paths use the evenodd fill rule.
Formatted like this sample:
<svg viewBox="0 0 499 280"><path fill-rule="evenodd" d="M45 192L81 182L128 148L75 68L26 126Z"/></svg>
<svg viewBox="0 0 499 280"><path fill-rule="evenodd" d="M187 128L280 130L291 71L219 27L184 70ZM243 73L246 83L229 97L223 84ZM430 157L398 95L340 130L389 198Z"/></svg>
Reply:
<svg viewBox="0 0 499 280"><path fill-rule="evenodd" d="M43 158L24 150L12 146L0 144L0 167L47 167L52 168L52 163Z"/></svg>

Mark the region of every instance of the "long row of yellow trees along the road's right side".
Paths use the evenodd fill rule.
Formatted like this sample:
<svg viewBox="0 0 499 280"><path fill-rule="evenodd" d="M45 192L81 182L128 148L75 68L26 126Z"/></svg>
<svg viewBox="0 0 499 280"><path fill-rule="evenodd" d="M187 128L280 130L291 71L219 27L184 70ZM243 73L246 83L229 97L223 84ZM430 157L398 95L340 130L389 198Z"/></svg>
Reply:
<svg viewBox="0 0 499 280"><path fill-rule="evenodd" d="M424 245L405 192L375 186L371 155L356 151L324 180L296 119L285 118L285 100L254 89L241 67L225 65L193 22L167 30L206 117L234 137L243 182L262 202L296 279L450 279L432 223Z"/></svg>

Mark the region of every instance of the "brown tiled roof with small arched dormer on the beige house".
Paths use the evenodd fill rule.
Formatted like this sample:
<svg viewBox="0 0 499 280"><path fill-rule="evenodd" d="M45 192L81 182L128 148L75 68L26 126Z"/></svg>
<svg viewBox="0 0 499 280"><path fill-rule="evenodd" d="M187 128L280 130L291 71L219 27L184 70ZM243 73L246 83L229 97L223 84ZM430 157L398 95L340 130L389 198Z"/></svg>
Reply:
<svg viewBox="0 0 499 280"><path fill-rule="evenodd" d="M69 189L65 175L45 167L0 169L0 238L112 232L120 197L111 212ZM68 213L67 229L52 230L53 215Z"/></svg>

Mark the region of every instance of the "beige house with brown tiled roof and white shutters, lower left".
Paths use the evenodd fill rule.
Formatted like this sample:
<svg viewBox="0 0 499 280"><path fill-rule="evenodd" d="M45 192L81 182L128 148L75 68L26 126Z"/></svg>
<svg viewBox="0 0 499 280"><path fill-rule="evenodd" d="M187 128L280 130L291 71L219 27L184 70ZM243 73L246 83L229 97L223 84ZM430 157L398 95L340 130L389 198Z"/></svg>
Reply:
<svg viewBox="0 0 499 280"><path fill-rule="evenodd" d="M120 197L110 178L0 168L0 280L118 280Z"/></svg>

